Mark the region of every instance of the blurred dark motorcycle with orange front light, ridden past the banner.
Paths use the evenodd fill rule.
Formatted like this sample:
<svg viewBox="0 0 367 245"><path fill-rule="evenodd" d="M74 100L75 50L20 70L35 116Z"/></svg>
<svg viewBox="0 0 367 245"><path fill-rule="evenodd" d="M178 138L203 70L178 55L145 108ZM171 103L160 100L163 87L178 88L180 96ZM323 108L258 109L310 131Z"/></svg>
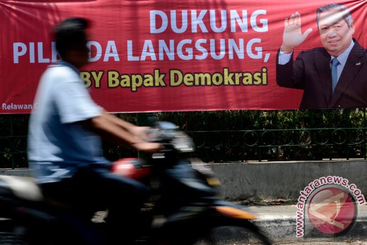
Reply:
<svg viewBox="0 0 367 245"><path fill-rule="evenodd" d="M111 169L150 188L149 205L137 217L141 225L134 244L248 244L252 236L271 244L252 222L255 215L217 198L219 180L187 157L195 149L187 134L170 122L156 122L148 135L164 148L145 159L120 159ZM8 218L0 221L0 239L13 235L6 244L104 244L103 222L86 225L65 210L47 203L34 180L0 176L0 217Z"/></svg>

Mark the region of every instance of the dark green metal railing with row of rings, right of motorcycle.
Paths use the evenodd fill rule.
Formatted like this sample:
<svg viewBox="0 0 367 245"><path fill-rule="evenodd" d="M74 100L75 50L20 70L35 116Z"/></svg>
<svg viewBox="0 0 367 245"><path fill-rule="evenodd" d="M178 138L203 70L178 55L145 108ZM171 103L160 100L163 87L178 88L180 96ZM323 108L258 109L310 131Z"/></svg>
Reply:
<svg viewBox="0 0 367 245"><path fill-rule="evenodd" d="M284 161L366 159L366 130L323 128L189 133L205 161Z"/></svg>

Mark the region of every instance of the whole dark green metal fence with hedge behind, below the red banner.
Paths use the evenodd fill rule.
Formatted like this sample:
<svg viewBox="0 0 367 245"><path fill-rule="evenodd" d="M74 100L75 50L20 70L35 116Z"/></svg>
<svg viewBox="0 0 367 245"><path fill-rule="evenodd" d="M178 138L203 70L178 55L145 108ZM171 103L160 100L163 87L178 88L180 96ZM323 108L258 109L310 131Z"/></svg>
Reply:
<svg viewBox="0 0 367 245"><path fill-rule="evenodd" d="M366 159L366 109L158 112L193 137L206 162ZM136 114L117 114L136 123ZM0 168L27 167L29 115L0 115ZM137 152L104 143L110 160Z"/></svg>

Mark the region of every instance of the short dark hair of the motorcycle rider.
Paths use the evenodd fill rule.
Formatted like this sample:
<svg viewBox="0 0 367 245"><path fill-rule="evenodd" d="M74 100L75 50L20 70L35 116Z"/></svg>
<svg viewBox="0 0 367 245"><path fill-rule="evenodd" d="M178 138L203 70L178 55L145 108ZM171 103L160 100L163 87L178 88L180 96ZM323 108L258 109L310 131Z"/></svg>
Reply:
<svg viewBox="0 0 367 245"><path fill-rule="evenodd" d="M85 29L89 21L83 18L68 18L58 24L54 30L56 50L61 58L67 51L79 48L87 42Z"/></svg>

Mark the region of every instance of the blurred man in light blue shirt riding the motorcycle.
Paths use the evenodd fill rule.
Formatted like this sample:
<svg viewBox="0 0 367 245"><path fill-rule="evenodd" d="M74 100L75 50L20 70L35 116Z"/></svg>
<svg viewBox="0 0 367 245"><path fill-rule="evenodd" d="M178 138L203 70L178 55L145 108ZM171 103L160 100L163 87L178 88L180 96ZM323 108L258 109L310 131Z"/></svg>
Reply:
<svg viewBox="0 0 367 245"><path fill-rule="evenodd" d="M90 220L96 206L105 206L113 244L121 230L126 240L133 239L134 216L147 190L138 181L110 172L100 137L147 153L161 145L145 141L145 127L107 114L91 99L79 76L79 69L88 63L87 27L86 19L69 18L54 30L62 61L48 66L41 76L35 98L39 107L29 122L28 159L48 202L72 210L84 221ZM124 193L116 195L121 190ZM121 219L130 222L118 227Z"/></svg>

